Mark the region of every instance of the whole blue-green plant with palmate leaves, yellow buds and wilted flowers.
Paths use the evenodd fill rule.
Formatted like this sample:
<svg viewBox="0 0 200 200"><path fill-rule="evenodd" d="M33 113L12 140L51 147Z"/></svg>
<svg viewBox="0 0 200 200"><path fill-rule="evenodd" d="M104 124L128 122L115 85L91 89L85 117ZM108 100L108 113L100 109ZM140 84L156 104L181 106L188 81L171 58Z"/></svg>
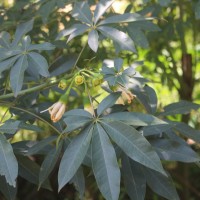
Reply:
<svg viewBox="0 0 200 200"><path fill-rule="evenodd" d="M147 41L143 29L159 29L154 16L131 6L116 14L114 0L19 2L1 15L4 197L15 199L22 177L58 192L73 183L83 199L89 173L108 200L119 199L121 183L130 199L144 199L146 185L179 199L161 161L199 162L181 135L199 142L200 133L168 116L200 105L184 100L159 111L154 89L136 70L142 64L123 59Z"/></svg>

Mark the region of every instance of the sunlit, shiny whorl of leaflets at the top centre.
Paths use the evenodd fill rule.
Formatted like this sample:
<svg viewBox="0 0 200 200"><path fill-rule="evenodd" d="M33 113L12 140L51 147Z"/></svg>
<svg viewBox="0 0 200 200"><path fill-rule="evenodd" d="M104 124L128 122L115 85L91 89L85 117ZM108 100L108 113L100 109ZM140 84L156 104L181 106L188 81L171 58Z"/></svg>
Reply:
<svg viewBox="0 0 200 200"><path fill-rule="evenodd" d="M113 2L114 0L99 1L94 14L91 13L87 2L76 3L72 10L72 16L81 23L74 24L71 28L63 30L59 33L57 39L63 36L69 36L67 40L69 42L74 37L82 35L88 31L88 45L94 52L97 52L98 50L99 34L102 34L104 37L113 40L113 42L118 45L119 50L135 52L136 50L133 40L125 32L109 25L116 23L146 21L147 18L137 13L124 13L122 15L116 14L104 20L100 20L102 15L104 15L106 10L112 5Z"/></svg>

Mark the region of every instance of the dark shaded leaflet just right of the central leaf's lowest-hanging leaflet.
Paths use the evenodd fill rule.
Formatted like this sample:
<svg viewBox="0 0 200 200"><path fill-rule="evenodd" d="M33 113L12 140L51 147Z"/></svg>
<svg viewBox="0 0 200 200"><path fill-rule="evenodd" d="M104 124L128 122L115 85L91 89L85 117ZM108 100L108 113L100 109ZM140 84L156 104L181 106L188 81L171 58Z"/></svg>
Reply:
<svg viewBox="0 0 200 200"><path fill-rule="evenodd" d="M131 200L144 200L146 179L141 170L141 166L129 159L125 154L122 156L122 176Z"/></svg>

